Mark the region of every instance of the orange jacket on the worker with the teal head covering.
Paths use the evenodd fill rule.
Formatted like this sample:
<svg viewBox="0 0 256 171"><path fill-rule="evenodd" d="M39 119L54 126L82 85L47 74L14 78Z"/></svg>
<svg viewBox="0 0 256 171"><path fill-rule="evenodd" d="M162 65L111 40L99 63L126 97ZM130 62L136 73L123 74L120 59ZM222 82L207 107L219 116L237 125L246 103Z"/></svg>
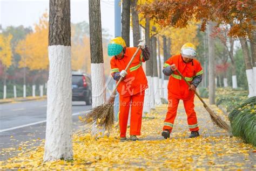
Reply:
<svg viewBox="0 0 256 171"><path fill-rule="evenodd" d="M124 70L136 49L137 47L126 47L123 59L116 59L115 56L113 56L110 61L111 74ZM124 80L120 82L117 88L120 95L135 95L148 87L146 75L142 68L142 62L145 61L143 60L142 51L140 50L127 70L127 75Z"/></svg>

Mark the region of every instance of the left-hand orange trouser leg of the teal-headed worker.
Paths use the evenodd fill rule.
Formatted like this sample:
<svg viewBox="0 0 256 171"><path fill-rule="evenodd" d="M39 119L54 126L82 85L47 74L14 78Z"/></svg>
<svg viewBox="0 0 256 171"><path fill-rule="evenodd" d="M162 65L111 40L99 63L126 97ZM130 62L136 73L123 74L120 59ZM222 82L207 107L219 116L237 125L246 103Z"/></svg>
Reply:
<svg viewBox="0 0 256 171"><path fill-rule="evenodd" d="M120 137L126 137L127 122L129 117L131 96L119 96L119 130Z"/></svg>

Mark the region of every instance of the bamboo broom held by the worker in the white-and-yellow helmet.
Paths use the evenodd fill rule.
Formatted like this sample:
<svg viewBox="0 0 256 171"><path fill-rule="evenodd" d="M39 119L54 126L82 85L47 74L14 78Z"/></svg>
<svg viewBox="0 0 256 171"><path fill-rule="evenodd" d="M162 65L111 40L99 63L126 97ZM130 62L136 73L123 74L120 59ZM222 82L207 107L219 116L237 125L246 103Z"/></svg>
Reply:
<svg viewBox="0 0 256 171"><path fill-rule="evenodd" d="M181 78L187 83L188 86L190 86L190 83L185 79L185 77L179 72L179 70L176 70L177 73L181 76ZM226 131L230 130L230 126L222 120L218 115L216 115L210 108L209 106L203 101L203 99L199 96L198 92L195 91L197 97L200 99L200 101L204 104L204 108L207 110L207 112L210 114L212 122L220 127L221 129L224 129Z"/></svg>

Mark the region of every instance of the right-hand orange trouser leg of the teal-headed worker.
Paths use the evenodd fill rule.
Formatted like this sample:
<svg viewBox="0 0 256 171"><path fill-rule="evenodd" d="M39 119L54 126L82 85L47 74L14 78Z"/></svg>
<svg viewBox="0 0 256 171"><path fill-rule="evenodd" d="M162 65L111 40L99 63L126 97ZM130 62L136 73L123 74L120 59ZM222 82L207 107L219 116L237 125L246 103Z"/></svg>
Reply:
<svg viewBox="0 0 256 171"><path fill-rule="evenodd" d="M131 122L130 122L130 135L140 136L142 129L142 112L145 91L139 92L132 96L131 99Z"/></svg>

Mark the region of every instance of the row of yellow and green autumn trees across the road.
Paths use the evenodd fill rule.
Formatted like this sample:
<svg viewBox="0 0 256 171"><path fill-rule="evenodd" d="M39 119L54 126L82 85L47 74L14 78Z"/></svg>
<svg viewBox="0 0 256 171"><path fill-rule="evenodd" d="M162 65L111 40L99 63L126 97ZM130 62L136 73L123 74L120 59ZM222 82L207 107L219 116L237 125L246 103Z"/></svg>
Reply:
<svg viewBox="0 0 256 171"><path fill-rule="evenodd" d="M23 85L23 97L28 94L26 86L33 85L33 94L35 94L35 85L41 85L47 82L49 72L48 59L48 32L49 16L44 12L35 27L25 28L23 26L8 26L0 34L0 81L1 95L3 98L16 97L16 87ZM90 74L90 61L84 60L90 58L89 45L89 24L81 22L71 24L71 64L72 70L80 70ZM106 54L109 35L103 29L103 49L104 58L109 61ZM110 71L110 67L106 66ZM14 89L12 89L14 86ZM6 87L7 90L6 91ZM17 89L18 91L20 88ZM6 96L6 92L9 92ZM18 93L18 95L21 95Z"/></svg>

